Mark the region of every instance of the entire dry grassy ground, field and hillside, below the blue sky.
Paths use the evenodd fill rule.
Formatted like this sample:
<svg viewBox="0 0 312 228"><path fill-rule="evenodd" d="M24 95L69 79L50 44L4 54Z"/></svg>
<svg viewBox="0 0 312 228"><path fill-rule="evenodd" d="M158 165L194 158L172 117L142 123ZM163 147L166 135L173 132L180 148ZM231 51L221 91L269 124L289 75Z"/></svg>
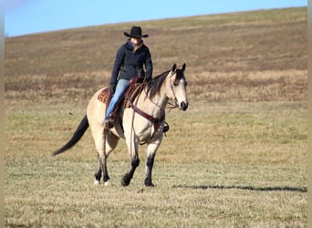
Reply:
<svg viewBox="0 0 312 228"><path fill-rule="evenodd" d="M125 143L112 186L93 185L89 130L58 157L108 85L133 23L5 39L6 227L307 227L307 8L135 23L150 34L154 75L187 64L190 106L145 188L145 147L129 187Z"/></svg>

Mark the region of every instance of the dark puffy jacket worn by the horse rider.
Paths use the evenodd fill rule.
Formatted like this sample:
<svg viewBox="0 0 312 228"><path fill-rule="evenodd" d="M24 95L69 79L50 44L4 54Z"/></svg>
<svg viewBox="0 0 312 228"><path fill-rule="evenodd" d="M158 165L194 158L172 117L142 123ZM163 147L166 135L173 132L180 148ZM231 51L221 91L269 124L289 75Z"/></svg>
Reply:
<svg viewBox="0 0 312 228"><path fill-rule="evenodd" d="M116 85L118 79L130 80L137 76L146 77L147 80L151 79L152 62L149 48L142 44L134 53L133 48L130 39L128 39L118 50L110 78L111 86Z"/></svg>

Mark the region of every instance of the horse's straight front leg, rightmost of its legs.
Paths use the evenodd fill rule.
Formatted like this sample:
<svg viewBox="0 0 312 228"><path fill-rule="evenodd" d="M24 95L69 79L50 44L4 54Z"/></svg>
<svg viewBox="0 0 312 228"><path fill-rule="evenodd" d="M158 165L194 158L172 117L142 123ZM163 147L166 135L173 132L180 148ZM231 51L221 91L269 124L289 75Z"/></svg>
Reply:
<svg viewBox="0 0 312 228"><path fill-rule="evenodd" d="M146 151L146 166L145 166L145 186L147 187L154 187L154 184L151 181L151 171L152 167L154 165L155 155L156 151L159 148L161 144L160 140L157 140L151 144L148 145L147 151Z"/></svg>

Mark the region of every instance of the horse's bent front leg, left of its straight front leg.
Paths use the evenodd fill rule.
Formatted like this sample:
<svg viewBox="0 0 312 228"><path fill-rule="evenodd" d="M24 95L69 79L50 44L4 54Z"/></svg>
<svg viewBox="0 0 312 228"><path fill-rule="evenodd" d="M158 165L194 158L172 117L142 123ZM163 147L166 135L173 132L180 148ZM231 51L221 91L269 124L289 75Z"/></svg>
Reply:
<svg viewBox="0 0 312 228"><path fill-rule="evenodd" d="M128 171L121 179L122 186L128 186L130 184L134 171L140 164L137 140L127 140L127 146L128 150L130 150L131 167L130 171Z"/></svg>

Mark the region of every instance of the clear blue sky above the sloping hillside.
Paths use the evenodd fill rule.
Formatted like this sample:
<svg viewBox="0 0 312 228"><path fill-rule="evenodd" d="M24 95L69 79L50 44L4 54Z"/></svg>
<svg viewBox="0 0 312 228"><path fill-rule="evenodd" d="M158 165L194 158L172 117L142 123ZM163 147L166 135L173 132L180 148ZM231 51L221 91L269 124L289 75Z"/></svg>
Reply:
<svg viewBox="0 0 312 228"><path fill-rule="evenodd" d="M307 0L4 0L5 36L297 6Z"/></svg>

